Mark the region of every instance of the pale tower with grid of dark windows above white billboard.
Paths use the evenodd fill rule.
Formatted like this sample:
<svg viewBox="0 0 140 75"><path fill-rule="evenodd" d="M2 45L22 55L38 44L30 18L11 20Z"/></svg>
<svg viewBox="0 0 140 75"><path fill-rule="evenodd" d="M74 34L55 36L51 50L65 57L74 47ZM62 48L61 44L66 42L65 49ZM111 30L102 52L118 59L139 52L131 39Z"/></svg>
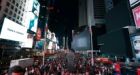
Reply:
<svg viewBox="0 0 140 75"><path fill-rule="evenodd" d="M28 0L0 0L0 20L4 17L22 25L23 14Z"/></svg>

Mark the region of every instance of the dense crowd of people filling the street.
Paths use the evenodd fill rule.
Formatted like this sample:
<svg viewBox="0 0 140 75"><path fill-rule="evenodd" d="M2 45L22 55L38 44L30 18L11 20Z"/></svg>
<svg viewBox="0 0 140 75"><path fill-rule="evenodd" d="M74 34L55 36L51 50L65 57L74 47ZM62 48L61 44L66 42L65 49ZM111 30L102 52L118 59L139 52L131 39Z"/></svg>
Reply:
<svg viewBox="0 0 140 75"><path fill-rule="evenodd" d="M9 70L4 70L1 75L121 75L120 68L119 63L103 63L94 60L92 65L90 58L75 54L67 57L67 54L63 54L45 60L44 64L38 61L31 66L13 66Z"/></svg>

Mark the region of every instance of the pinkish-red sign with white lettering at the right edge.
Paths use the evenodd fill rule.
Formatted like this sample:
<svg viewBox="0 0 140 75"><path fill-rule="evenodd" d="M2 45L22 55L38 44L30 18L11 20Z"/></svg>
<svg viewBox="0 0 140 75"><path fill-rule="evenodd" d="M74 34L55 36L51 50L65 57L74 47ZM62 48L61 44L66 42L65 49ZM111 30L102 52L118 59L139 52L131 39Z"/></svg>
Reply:
<svg viewBox="0 0 140 75"><path fill-rule="evenodd" d="M134 21L137 28L140 28L140 6L137 6L136 8L132 9Z"/></svg>

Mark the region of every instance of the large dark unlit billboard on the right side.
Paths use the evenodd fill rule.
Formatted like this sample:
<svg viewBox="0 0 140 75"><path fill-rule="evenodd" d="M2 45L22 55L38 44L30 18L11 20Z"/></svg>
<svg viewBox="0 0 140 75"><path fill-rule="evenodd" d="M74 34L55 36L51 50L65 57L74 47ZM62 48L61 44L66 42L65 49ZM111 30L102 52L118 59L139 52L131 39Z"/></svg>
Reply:
<svg viewBox="0 0 140 75"><path fill-rule="evenodd" d="M109 32L98 38L98 44L103 44L100 47L101 52L116 55L132 57L132 48L127 28L122 28Z"/></svg>

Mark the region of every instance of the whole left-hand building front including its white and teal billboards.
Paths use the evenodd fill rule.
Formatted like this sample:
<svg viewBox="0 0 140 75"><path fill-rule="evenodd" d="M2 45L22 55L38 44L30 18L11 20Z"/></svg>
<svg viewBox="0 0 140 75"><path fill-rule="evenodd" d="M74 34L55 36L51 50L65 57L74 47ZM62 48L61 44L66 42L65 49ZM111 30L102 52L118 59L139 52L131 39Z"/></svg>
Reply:
<svg viewBox="0 0 140 75"><path fill-rule="evenodd" d="M1 56L17 52L24 47L32 48L34 34L38 25L39 7L38 0L0 0ZM4 33L8 38L4 37ZM11 33L14 35L11 35ZM21 39L19 34L25 35L24 39L22 39L24 41L19 41Z"/></svg>

